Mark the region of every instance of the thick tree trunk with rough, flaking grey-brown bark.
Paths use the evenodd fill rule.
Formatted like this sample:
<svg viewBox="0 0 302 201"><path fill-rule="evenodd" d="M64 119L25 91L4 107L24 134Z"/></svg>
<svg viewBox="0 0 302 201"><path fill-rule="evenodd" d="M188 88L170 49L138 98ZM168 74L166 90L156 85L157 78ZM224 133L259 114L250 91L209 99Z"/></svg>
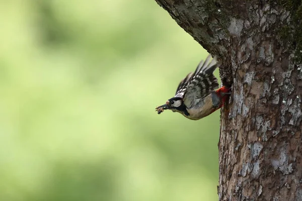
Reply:
<svg viewBox="0 0 302 201"><path fill-rule="evenodd" d="M232 85L219 200L302 200L301 0L156 2L222 61L222 83Z"/></svg>

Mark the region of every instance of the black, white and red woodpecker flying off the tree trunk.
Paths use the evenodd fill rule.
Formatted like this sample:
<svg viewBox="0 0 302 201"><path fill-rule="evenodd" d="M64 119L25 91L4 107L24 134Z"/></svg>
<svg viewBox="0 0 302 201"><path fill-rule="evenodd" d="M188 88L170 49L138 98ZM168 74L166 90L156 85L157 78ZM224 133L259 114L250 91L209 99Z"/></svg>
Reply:
<svg viewBox="0 0 302 201"><path fill-rule="evenodd" d="M218 81L213 72L219 63L215 57L211 61L210 59L211 55L208 55L204 62L201 60L196 70L179 83L175 96L168 99L165 105L156 108L158 114L171 110L190 120L199 120L223 106L231 94L231 88L218 88Z"/></svg>

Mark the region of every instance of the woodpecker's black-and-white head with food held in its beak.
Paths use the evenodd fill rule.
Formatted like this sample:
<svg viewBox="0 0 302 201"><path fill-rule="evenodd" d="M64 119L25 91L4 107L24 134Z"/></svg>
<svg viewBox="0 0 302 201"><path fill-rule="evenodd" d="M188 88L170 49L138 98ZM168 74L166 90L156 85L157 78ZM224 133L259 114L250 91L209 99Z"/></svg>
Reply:
<svg viewBox="0 0 302 201"><path fill-rule="evenodd" d="M182 115L188 115L183 99L181 97L172 97L167 100L166 104L156 108L158 114L164 112L164 110L171 110L173 112L181 113Z"/></svg>

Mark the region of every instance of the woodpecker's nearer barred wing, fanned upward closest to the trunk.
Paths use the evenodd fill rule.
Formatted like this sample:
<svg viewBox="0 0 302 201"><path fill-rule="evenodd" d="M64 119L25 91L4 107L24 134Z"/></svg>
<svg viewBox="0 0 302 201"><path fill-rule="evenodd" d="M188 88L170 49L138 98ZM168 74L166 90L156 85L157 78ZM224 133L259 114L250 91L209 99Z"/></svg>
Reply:
<svg viewBox="0 0 302 201"><path fill-rule="evenodd" d="M184 104L188 108L196 105L201 98L207 96L212 90L219 86L217 78L213 75L218 64L215 58L211 61L210 59L211 55L208 55L204 62L200 61L189 80L183 96Z"/></svg>

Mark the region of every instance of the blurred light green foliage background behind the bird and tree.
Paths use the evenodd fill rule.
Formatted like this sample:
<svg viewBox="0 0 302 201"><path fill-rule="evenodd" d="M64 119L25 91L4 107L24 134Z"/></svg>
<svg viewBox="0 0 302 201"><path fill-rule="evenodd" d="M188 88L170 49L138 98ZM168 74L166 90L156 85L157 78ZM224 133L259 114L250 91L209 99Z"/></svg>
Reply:
<svg viewBox="0 0 302 201"><path fill-rule="evenodd" d="M0 13L0 200L217 200L219 111L155 112L207 53L154 0Z"/></svg>

